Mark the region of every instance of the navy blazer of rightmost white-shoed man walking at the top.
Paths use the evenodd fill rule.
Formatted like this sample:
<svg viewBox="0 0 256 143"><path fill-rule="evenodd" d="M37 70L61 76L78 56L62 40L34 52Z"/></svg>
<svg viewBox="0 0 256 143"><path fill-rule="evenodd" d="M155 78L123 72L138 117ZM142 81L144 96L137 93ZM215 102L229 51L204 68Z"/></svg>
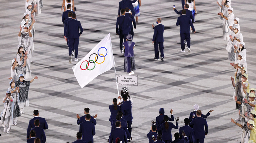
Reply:
<svg viewBox="0 0 256 143"><path fill-rule="evenodd" d="M180 17L178 17L176 26L180 25L180 33L189 33L190 32L190 26L192 28L193 31L196 31L194 28L193 23L191 22L190 17L186 16L186 15L181 15Z"/></svg>

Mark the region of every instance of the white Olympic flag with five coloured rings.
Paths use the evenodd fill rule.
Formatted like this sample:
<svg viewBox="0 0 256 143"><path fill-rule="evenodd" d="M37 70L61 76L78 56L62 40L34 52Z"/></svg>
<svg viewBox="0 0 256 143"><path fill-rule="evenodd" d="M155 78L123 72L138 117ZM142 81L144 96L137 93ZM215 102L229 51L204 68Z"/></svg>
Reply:
<svg viewBox="0 0 256 143"><path fill-rule="evenodd" d="M94 78L115 66L110 33L84 58L72 67L75 78L83 88Z"/></svg>

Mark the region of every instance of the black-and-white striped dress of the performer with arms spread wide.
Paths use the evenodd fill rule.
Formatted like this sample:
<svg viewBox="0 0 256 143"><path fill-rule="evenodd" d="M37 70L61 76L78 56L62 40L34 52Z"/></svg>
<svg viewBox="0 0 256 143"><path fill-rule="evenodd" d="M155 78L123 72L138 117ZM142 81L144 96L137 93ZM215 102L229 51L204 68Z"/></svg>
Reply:
<svg viewBox="0 0 256 143"><path fill-rule="evenodd" d="M24 108L26 106L29 106L29 86L30 81L14 81L16 86L19 87L20 93L19 93L19 106L20 108Z"/></svg>

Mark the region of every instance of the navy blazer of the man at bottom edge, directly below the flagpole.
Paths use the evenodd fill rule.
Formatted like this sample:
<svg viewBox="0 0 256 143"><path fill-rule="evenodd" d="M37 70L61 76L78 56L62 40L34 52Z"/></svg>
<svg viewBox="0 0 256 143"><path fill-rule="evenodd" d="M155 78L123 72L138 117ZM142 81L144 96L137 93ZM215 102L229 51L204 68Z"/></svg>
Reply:
<svg viewBox="0 0 256 143"><path fill-rule="evenodd" d="M109 143L115 143L117 137L119 137L123 143L127 143L126 133L120 128L116 128L110 132Z"/></svg>

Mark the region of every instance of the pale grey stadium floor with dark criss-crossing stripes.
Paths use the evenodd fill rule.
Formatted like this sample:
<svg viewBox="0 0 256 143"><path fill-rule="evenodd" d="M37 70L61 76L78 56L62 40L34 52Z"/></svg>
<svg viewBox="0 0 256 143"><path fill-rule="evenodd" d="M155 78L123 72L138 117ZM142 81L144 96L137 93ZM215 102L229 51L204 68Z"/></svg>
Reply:
<svg viewBox="0 0 256 143"><path fill-rule="evenodd" d="M75 0L77 20L84 29L79 38L78 59L82 59L108 33L111 35L117 74L123 72L124 57L119 51L119 37L115 35L118 12L116 0ZM22 21L24 0L0 0L0 91L4 98L9 87L11 60L16 57L19 24ZM82 115L84 108L90 114L98 114L96 143L107 142L111 126L108 106L117 98L114 68L99 75L86 87L81 88L74 76L72 64L68 63L68 48L63 36L61 21L62 1L44 0L42 14L36 17L34 35L34 57L31 64L32 77L38 76L29 91L29 107L18 118L18 125L12 126L11 134L3 133L0 127L0 142L26 142L26 131L33 110L38 109L40 117L47 120L49 129L45 130L46 142L73 142L79 125L76 114ZM181 9L180 0L145 0L140 7L139 24L134 30L135 74L139 85L129 87L133 98L132 142L148 142L151 120L164 108L166 115L173 109L174 117L180 117L179 126L199 104L200 110L207 113L209 132L207 143L239 142L241 128L230 122L237 118L235 102L232 101L234 89L230 76L234 69L229 65L227 41L222 39L222 21L216 1L196 1L197 16L194 24L196 33L191 34L191 53L181 53L177 15L172 6ZM235 17L239 17L241 33L247 49L247 66L250 87L256 86L255 3L248 0L241 3L232 0ZM164 62L154 61L152 23L162 18L164 30ZM86 75L85 75L86 76ZM30 80L30 79L27 79ZM120 92L121 86L119 86ZM0 97L1 98L1 97ZM1 105L0 111L3 106ZM179 130L172 130L174 135Z"/></svg>

